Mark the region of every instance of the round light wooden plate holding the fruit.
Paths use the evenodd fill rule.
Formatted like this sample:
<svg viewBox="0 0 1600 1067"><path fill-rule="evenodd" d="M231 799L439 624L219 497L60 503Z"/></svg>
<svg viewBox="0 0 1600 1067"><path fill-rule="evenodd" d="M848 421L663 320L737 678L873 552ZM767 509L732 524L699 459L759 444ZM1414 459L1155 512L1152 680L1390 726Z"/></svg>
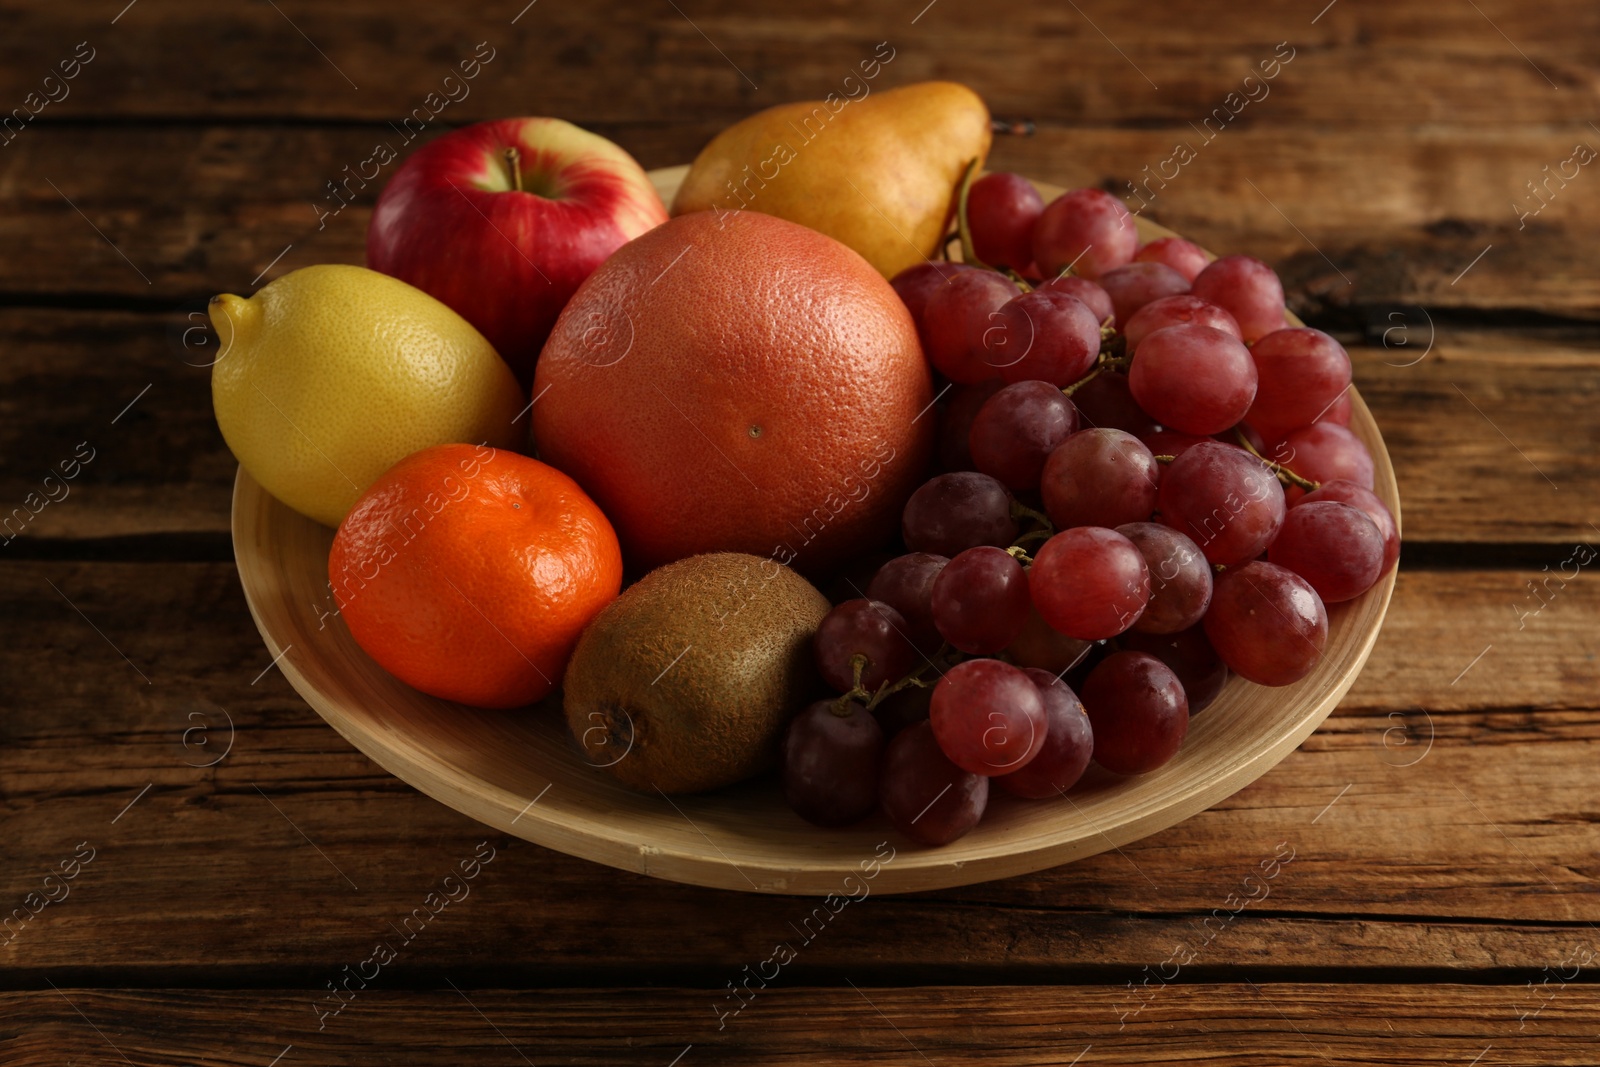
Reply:
<svg viewBox="0 0 1600 1067"><path fill-rule="evenodd" d="M651 174L669 202L685 170ZM1059 192L1042 190L1046 200ZM1168 234L1138 224L1142 240ZM1354 390L1352 400L1350 429L1371 451L1376 493L1398 522L1382 437ZM944 848L918 848L880 814L846 830L813 827L784 806L773 781L670 800L635 793L582 760L557 697L488 712L411 689L368 659L334 614L331 541L331 530L290 510L240 469L234 553L250 613L283 675L350 744L429 797L538 845L674 881L794 894L848 893L845 878L859 877L882 841L893 861L880 865L872 889L907 893L1053 867L1203 811L1261 777L1326 718L1366 662L1395 584L1390 571L1358 600L1330 609L1322 662L1296 685L1229 680L1158 771L1091 771L1067 800L1022 801L994 790L976 830Z"/></svg>

